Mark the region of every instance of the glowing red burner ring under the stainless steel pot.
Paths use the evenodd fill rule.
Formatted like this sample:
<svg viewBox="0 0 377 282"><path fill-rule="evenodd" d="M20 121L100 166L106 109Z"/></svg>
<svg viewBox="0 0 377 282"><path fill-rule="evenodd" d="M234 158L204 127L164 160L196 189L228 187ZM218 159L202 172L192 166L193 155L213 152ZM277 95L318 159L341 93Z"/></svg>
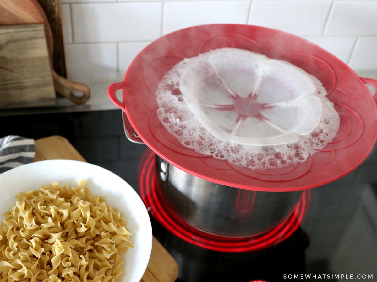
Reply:
<svg viewBox="0 0 377 282"><path fill-rule="evenodd" d="M253 237L220 237L195 229L177 217L164 205L165 200L156 183L155 154L147 150L139 166L139 186L148 211L164 228L182 240L219 252L250 252L285 240L299 227L310 202L310 191L305 190L292 214L274 229Z"/></svg>

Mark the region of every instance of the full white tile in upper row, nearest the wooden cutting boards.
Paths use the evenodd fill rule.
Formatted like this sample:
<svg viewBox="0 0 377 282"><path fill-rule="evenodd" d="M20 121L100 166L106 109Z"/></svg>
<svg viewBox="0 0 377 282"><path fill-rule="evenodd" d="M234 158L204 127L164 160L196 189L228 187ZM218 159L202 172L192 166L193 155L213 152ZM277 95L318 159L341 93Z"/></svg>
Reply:
<svg viewBox="0 0 377 282"><path fill-rule="evenodd" d="M161 35L161 2L71 5L74 42L153 40Z"/></svg>

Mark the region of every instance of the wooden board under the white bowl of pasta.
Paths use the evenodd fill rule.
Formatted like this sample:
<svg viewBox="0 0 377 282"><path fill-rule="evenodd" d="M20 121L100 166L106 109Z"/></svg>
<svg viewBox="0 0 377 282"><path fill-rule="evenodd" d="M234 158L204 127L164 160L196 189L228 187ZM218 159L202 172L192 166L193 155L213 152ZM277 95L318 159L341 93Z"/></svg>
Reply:
<svg viewBox="0 0 377 282"><path fill-rule="evenodd" d="M85 161L83 156L62 136L49 136L35 140L34 161L70 159ZM153 237L152 253L142 282L173 282L178 277L178 265L167 250Z"/></svg>

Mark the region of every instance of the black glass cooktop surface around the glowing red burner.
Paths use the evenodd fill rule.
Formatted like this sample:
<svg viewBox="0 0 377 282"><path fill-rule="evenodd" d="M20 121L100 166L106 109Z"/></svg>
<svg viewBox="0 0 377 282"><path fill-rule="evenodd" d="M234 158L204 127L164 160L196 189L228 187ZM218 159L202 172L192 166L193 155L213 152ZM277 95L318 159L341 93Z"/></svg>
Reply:
<svg viewBox="0 0 377 282"><path fill-rule="evenodd" d="M149 150L124 136L121 112L1 116L2 136L66 137L83 157L121 176L140 193ZM219 252L189 243L151 215L153 233L179 266L178 282L377 281L377 152L345 177L310 190L297 228L277 244Z"/></svg>

